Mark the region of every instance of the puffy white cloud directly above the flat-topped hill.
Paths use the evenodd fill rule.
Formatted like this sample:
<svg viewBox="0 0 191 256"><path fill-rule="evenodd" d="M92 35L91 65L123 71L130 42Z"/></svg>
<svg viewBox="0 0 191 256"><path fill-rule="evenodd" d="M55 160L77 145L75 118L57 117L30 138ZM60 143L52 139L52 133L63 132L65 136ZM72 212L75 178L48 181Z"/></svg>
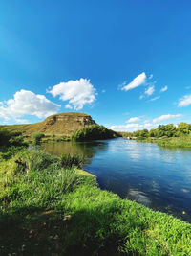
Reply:
<svg viewBox="0 0 191 256"><path fill-rule="evenodd" d="M66 108L80 110L86 104L92 104L96 100L96 88L90 80L80 79L76 81L60 82L49 91L53 97L59 96L62 101L69 101Z"/></svg>

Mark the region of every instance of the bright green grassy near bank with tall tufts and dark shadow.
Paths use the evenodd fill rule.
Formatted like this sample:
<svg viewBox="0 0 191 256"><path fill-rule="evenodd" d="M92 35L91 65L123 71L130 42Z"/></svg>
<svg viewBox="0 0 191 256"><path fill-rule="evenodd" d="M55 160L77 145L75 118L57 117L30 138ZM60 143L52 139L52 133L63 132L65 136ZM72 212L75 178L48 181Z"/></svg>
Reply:
<svg viewBox="0 0 191 256"><path fill-rule="evenodd" d="M0 158L0 255L191 255L191 225L42 151Z"/></svg>

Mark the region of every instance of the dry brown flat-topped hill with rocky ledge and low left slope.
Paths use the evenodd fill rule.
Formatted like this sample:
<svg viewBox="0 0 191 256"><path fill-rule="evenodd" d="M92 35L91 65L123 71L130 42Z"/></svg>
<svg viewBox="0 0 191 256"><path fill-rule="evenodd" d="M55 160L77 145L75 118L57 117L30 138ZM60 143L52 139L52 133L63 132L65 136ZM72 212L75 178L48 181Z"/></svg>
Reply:
<svg viewBox="0 0 191 256"><path fill-rule="evenodd" d="M92 117L85 113L59 113L47 117L43 122L30 125L12 125L0 126L0 128L9 128L11 130L20 130L26 135L40 131L46 135L65 135L72 134L75 130L86 126L96 125Z"/></svg>

